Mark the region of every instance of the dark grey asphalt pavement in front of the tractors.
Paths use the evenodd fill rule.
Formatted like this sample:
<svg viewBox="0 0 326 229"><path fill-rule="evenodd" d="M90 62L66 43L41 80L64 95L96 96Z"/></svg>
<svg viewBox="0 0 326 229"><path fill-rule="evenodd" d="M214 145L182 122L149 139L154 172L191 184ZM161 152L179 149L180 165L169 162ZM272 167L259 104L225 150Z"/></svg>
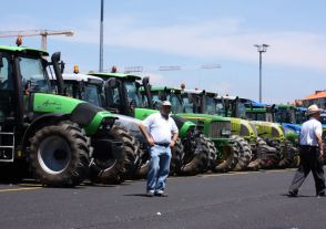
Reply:
<svg viewBox="0 0 326 229"><path fill-rule="evenodd" d="M287 196L294 170L172 177L167 197L146 197L145 180L119 186L0 185L0 228L326 228L326 197L312 176Z"/></svg>

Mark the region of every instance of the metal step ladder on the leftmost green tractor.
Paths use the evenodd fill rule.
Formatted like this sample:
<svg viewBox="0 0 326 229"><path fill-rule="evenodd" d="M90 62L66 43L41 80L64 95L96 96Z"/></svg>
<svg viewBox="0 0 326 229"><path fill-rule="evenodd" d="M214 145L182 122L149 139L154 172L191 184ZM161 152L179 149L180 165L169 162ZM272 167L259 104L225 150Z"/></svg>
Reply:
<svg viewBox="0 0 326 229"><path fill-rule="evenodd" d="M14 159L14 131L2 132L0 128L0 162L2 163L12 163ZM6 145L2 143L6 142Z"/></svg>

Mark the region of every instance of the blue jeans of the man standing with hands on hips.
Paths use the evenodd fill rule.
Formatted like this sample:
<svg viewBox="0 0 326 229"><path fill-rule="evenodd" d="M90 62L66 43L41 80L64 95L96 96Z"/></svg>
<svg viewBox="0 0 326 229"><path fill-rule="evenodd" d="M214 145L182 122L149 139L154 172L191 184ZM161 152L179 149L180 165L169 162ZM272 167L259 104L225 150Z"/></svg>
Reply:
<svg viewBox="0 0 326 229"><path fill-rule="evenodd" d="M171 148L154 145L147 171L147 191L163 191L170 173Z"/></svg>

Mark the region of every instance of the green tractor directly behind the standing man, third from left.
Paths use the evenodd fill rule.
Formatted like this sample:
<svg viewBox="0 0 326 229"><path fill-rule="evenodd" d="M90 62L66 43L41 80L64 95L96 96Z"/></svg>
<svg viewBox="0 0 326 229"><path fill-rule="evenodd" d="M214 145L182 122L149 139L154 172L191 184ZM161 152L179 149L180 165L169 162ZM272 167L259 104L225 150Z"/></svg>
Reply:
<svg viewBox="0 0 326 229"><path fill-rule="evenodd" d="M132 74L90 73L90 75L106 81L105 98L109 111L140 121L157 112L153 108L147 77L144 77L140 83L141 77ZM171 174L195 175L202 173L207 167L207 140L201 135L195 124L177 116L172 117L180 129L180 139L172 150ZM137 124L140 121L137 121ZM144 177L149 162L149 147L139 129L137 136L143 149L139 176Z"/></svg>

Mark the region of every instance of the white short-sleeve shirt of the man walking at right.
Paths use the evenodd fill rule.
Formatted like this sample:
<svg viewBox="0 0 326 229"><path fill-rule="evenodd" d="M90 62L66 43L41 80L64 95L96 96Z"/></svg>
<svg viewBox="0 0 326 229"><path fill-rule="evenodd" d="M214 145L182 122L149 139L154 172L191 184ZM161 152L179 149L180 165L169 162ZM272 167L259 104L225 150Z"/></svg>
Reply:
<svg viewBox="0 0 326 229"><path fill-rule="evenodd" d="M317 134L323 134L322 123L312 117L302 126L300 145L318 146Z"/></svg>

